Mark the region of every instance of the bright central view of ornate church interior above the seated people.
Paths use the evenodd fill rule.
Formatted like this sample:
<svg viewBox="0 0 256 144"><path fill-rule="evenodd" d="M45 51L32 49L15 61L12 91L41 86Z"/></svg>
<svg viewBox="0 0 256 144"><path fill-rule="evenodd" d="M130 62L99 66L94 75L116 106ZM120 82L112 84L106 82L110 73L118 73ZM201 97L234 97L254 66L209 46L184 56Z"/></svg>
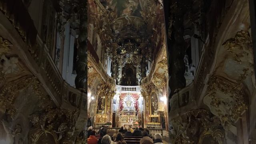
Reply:
<svg viewBox="0 0 256 144"><path fill-rule="evenodd" d="M168 138L162 2L88 0L87 84L88 120L96 132L141 126Z"/></svg>

